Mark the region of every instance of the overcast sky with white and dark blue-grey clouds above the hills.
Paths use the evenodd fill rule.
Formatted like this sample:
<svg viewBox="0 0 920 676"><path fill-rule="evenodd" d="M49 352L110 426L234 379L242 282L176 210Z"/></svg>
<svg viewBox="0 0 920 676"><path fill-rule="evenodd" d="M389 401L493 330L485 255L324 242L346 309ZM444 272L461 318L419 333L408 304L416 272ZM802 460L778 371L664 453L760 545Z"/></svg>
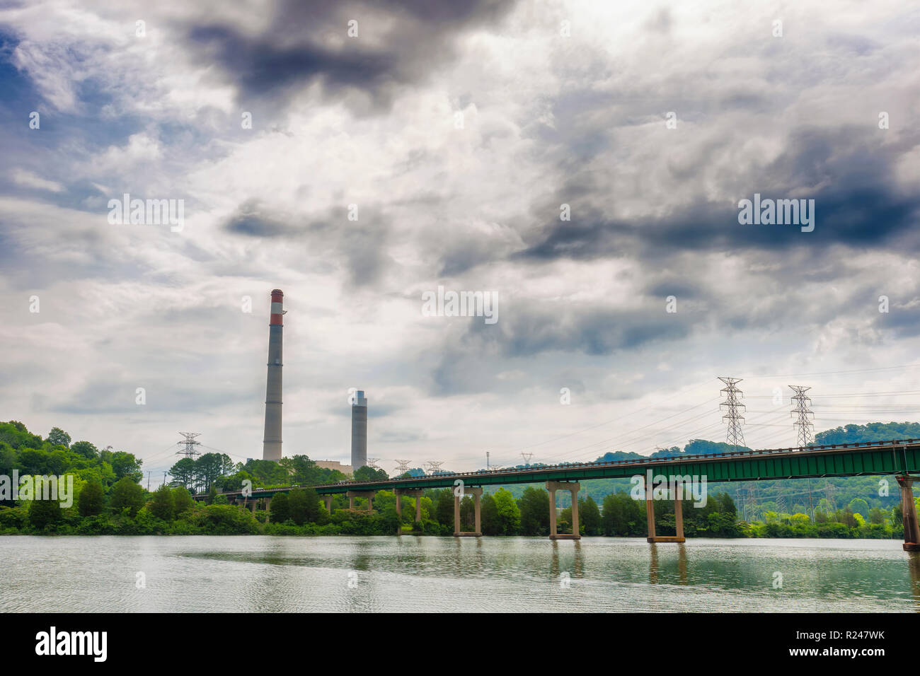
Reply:
<svg viewBox="0 0 920 676"><path fill-rule="evenodd" d="M387 470L724 441L719 375L753 447L796 441L788 384L819 431L918 419L918 34L896 0L6 3L0 418L155 477L179 431L261 457L280 288L287 455L349 461L350 387ZM813 232L739 223L754 193ZM439 285L498 321L424 315Z"/></svg>

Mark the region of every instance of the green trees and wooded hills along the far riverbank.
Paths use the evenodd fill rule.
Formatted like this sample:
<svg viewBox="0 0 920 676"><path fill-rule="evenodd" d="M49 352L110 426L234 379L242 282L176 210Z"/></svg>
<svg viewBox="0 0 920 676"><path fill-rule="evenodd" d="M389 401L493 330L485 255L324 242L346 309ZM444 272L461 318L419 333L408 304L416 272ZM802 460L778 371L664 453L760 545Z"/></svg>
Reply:
<svg viewBox="0 0 920 676"><path fill-rule="evenodd" d="M920 437L916 423L848 425L818 435L817 443L885 441ZM690 441L684 449L656 455L689 455L733 450L713 441ZM603 459L628 459L633 453L608 453ZM641 456L636 456L641 457ZM331 513L312 486L346 478L316 466L306 455L278 463L250 460L234 464L223 453L204 453L178 461L169 484L148 492L142 485L143 462L132 453L98 449L88 441L71 442L58 428L46 438L17 421L0 423L0 475L72 476L74 500L62 507L53 500L0 499L0 534L292 534L449 535L454 532L454 496L449 488L427 490L414 522L415 500L378 491L373 513L358 499L354 511L344 496L334 498ZM358 479L385 478L362 467ZM888 482L885 495L884 481ZM229 504L222 491L252 487L293 487L271 500L270 510ZM645 505L629 495L625 480L598 479L581 484L581 535L645 536ZM684 500L687 537L834 537L903 536L898 487L893 476L795 479L709 485L707 505ZM206 493L201 502L192 493ZM568 498L568 494L560 494ZM558 510L559 533L571 531L571 508ZM461 502L461 527L473 530L472 498ZM487 487L482 497L481 528L486 535L546 535L549 496L542 486ZM674 533L673 503L656 504L656 531Z"/></svg>

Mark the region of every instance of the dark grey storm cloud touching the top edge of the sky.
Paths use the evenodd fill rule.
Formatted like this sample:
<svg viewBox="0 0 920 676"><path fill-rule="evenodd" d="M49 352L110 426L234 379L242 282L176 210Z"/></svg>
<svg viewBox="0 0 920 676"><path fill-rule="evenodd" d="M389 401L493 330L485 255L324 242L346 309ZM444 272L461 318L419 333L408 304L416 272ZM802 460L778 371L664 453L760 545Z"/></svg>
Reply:
<svg viewBox="0 0 920 676"><path fill-rule="evenodd" d="M190 39L203 60L217 63L239 97L283 97L319 81L327 95L354 88L386 105L390 87L419 81L453 52L460 32L498 21L506 0L387 0L330 3L310 0L277 6L270 29L258 36L221 23L195 26ZM381 15L388 15L381 20ZM359 35L348 38L348 22ZM326 40L333 37L333 43ZM363 36L363 40L362 40ZM344 39L343 44L334 44Z"/></svg>

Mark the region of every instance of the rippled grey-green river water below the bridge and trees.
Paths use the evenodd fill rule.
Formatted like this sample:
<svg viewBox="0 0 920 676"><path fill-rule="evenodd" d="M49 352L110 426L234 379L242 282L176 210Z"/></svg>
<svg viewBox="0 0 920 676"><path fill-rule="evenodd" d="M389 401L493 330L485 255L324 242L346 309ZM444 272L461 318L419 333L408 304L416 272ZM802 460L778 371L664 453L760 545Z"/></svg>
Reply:
<svg viewBox="0 0 920 676"><path fill-rule="evenodd" d="M6 536L0 556L4 613L920 611L893 540Z"/></svg>

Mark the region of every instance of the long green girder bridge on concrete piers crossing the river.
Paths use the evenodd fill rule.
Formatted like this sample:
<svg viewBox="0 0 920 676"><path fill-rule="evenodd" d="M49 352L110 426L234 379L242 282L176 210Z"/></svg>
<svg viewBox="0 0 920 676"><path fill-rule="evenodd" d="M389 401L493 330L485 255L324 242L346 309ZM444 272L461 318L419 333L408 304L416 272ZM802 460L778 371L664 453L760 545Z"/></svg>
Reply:
<svg viewBox="0 0 920 676"><path fill-rule="evenodd" d="M374 509L374 494L390 490L397 496L397 512L402 513L402 497L416 499L416 521L421 520L421 492L430 488L454 489L454 535L480 536L479 499L482 487L500 484L545 483L549 491L549 537L552 540L579 539L578 492L581 481L589 479L648 477L643 481L649 542L684 542L684 518L681 496L686 485L705 477L707 483L720 481L759 481L776 479L822 478L826 476L896 475L901 487L901 509L904 524L904 550L920 551L920 527L914 508L913 484L920 474L920 440L868 441L823 446L740 451L737 453L709 453L642 460L620 460L605 463L562 463L518 467L514 469L478 470L476 472L439 472L433 475L377 481L341 481L336 484L313 486L326 501L331 511L332 498L345 494L354 510L355 498L367 498L367 510ZM668 499L674 501L676 535L655 534L654 485L665 485ZM256 509L261 500L268 510L271 497L288 493L291 487L253 488L248 495L243 491L225 493L228 499ZM572 533L558 533L556 524L556 493L569 491L572 497ZM475 530L460 531L460 499L472 495L475 507ZM196 499L203 499L198 494Z"/></svg>

